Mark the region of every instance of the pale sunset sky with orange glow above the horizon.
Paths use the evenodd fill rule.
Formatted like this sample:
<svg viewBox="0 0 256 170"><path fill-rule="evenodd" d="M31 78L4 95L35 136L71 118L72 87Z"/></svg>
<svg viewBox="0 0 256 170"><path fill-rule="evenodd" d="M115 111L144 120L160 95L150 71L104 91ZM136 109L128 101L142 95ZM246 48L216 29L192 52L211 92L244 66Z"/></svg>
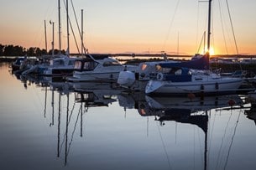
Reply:
<svg viewBox="0 0 256 170"><path fill-rule="evenodd" d="M199 0L72 2L79 27L81 9L84 10L84 44L89 53L203 53L208 3ZM0 44L45 49L45 20L47 46L50 49L51 20L55 22L55 49L59 48L58 0L0 0L0 3ZM67 49L64 5L64 0L60 0L61 49ZM215 54L256 54L255 9L255 0L212 0L211 48ZM69 15L78 48L81 49L71 0ZM71 28L70 42L71 53L77 53Z"/></svg>

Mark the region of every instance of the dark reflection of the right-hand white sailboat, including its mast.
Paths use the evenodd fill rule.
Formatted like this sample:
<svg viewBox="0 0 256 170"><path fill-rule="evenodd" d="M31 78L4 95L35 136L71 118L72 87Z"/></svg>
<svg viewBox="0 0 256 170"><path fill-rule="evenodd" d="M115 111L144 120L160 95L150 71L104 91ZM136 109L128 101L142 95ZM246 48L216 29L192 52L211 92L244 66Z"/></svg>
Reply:
<svg viewBox="0 0 256 170"><path fill-rule="evenodd" d="M126 100L125 100L126 99ZM123 101L122 101L123 100ZM135 108L140 116L154 116L155 121L159 121L160 126L165 126L166 121L175 121L184 124L198 126L204 132L204 169L208 168L208 126L209 116L212 110L230 109L238 106L243 109L243 100L239 95L208 96L205 98L189 98L174 96L148 96L141 94L127 95L119 97L119 105L125 109ZM238 119L240 114L238 116ZM236 122L236 126L238 121ZM234 130L234 134L235 135ZM233 137L232 137L233 139ZM229 147L232 147L232 142ZM228 160L228 157L227 157ZM226 160L226 161L227 161Z"/></svg>

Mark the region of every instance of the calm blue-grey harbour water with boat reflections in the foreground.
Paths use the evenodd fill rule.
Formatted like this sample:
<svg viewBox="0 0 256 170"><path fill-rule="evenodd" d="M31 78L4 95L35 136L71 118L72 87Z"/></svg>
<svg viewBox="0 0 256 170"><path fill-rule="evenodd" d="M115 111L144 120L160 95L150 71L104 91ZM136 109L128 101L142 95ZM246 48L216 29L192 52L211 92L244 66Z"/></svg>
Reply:
<svg viewBox="0 0 256 170"><path fill-rule="evenodd" d="M114 85L19 80L8 67L0 64L1 169L256 168L246 96L128 95Z"/></svg>

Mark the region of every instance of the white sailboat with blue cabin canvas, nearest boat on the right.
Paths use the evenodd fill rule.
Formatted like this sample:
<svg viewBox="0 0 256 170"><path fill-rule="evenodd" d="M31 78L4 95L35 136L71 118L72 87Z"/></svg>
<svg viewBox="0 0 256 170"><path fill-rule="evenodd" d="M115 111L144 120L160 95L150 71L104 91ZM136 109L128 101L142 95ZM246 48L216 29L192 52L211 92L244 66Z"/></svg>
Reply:
<svg viewBox="0 0 256 170"><path fill-rule="evenodd" d="M210 35L211 35L211 9L212 0L209 0L208 11L208 35L206 56L209 59ZM235 92L242 85L243 79L233 77L222 77L206 71L193 73L189 67L176 66L173 64L160 64L163 70L169 69L169 73L159 73L156 80L149 80L146 85L146 94L178 94L187 95L189 93L211 95L226 94Z"/></svg>

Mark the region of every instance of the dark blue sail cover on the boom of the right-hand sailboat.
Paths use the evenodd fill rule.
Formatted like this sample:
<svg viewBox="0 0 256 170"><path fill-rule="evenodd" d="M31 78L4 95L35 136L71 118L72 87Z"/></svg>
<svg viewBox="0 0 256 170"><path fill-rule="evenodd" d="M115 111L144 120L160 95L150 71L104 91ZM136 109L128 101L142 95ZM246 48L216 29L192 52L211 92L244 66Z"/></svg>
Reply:
<svg viewBox="0 0 256 170"><path fill-rule="evenodd" d="M162 68L185 67L195 70L209 70L209 55L205 54L199 59L183 61L180 63L159 63Z"/></svg>

